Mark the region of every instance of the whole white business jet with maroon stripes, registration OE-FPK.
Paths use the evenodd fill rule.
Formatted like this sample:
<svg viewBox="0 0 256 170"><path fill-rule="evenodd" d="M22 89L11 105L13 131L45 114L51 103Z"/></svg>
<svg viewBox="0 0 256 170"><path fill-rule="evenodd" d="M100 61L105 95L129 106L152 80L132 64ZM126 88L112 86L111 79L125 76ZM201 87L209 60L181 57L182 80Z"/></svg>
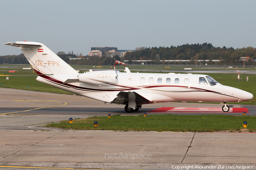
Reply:
<svg viewBox="0 0 256 170"><path fill-rule="evenodd" d="M38 42L9 42L19 47L38 74L36 80L92 99L125 105L126 112L138 111L141 105L171 101L224 103L246 101L253 95L224 86L207 75L126 73L114 70L78 73L44 44Z"/></svg>

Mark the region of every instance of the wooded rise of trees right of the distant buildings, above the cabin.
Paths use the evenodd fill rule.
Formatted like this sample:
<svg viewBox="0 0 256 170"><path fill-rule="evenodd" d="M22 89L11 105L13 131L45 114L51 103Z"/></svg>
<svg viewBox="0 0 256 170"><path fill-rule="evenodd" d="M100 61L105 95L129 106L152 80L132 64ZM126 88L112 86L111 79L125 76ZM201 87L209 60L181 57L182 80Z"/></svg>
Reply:
<svg viewBox="0 0 256 170"><path fill-rule="evenodd" d="M214 47L211 43L183 44L171 47L143 47L142 50L127 52L125 60L154 60L158 56L160 60L221 60L218 64L239 64L240 57L256 56L256 49L253 47L226 48L225 46ZM256 59L256 57L255 57Z"/></svg>

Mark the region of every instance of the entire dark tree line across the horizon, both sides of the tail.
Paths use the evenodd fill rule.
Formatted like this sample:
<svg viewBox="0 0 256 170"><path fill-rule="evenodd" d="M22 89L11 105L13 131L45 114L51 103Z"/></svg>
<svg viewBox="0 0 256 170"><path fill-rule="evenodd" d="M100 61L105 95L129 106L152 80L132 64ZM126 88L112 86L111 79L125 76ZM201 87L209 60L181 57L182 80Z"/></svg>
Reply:
<svg viewBox="0 0 256 170"><path fill-rule="evenodd" d="M73 51L72 51L73 52ZM65 52L58 52L57 55L65 62L71 65L113 65L114 59L103 55L99 56L77 56L75 54L65 54ZM140 47L136 51L126 52L124 57L119 58L115 56L118 61L129 60L128 63L132 63L132 60L151 60L148 64L158 64L160 60L190 60L190 64L195 64L197 60L220 60L215 64L227 64L227 65L239 65L243 64L239 62L240 57L250 57L256 59L256 48L226 48L223 46L214 47L211 43L203 44L183 44L180 46L171 47ZM75 60L69 60L69 58L81 58ZM249 59L246 64L252 64L253 61ZM12 55L12 56L0 56L0 63L8 64L28 64L24 54ZM162 62L164 64L164 62ZM211 64L211 62L209 63Z"/></svg>

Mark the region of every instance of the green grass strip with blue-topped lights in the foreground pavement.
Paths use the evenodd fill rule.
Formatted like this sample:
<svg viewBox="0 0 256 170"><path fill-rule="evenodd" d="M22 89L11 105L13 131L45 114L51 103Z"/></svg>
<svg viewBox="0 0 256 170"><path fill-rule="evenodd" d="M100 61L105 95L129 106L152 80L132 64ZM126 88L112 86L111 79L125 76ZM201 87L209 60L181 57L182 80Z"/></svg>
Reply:
<svg viewBox="0 0 256 170"><path fill-rule="evenodd" d="M242 113L241 113L242 114ZM98 127L94 127L94 121ZM239 131L247 121L247 129L256 130L255 116L228 115L139 115L139 116L93 116L87 119L76 119L52 123L46 127L75 129L75 130L114 130L114 131L176 131L176 132L214 132Z"/></svg>

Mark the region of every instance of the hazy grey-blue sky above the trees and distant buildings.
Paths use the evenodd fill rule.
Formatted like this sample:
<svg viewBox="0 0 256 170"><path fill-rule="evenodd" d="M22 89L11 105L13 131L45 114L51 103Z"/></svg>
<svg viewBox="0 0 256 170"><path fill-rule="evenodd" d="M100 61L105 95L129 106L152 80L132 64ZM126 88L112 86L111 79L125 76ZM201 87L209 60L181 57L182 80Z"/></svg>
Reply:
<svg viewBox="0 0 256 170"><path fill-rule="evenodd" d="M41 42L54 53L91 47L212 43L256 47L256 1L0 1L0 55L18 55L15 41Z"/></svg>

